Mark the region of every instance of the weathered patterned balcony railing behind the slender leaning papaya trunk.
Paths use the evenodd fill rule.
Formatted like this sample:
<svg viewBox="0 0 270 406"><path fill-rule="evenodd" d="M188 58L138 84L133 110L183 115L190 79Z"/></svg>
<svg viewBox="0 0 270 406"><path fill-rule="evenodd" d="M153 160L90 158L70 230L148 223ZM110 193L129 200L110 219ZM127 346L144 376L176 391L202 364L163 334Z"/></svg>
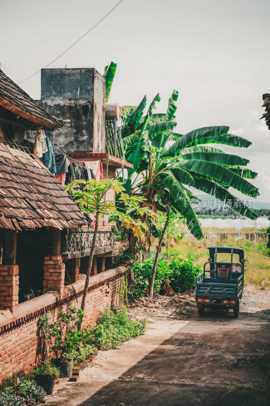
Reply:
<svg viewBox="0 0 270 406"><path fill-rule="evenodd" d="M85 228L69 229L61 236L61 255L63 258L79 258L90 255L94 230ZM113 244L110 228L103 228L97 233L94 255L118 255L118 251L128 249L128 241L119 241Z"/></svg>

